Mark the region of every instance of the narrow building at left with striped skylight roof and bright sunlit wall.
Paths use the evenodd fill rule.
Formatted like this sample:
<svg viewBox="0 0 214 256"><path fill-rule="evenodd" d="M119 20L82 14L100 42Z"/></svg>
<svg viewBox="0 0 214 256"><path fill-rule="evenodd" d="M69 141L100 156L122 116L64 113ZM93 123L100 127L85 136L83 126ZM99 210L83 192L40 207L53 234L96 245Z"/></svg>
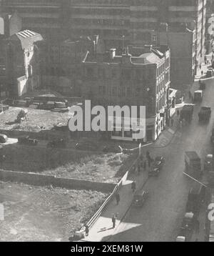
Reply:
<svg viewBox="0 0 214 256"><path fill-rule="evenodd" d="M6 88L10 97L19 97L40 85L39 49L36 41L40 34L24 30L6 39Z"/></svg>

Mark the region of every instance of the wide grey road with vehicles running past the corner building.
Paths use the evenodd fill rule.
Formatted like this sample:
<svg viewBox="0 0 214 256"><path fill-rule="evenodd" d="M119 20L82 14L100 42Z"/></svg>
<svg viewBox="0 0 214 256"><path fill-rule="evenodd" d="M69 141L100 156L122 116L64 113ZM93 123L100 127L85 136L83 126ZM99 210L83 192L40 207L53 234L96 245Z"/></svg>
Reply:
<svg viewBox="0 0 214 256"><path fill-rule="evenodd" d="M118 226L111 241L166 242L175 241L180 223L185 213L188 191L193 181L185 177L184 152L193 150L204 159L212 152L210 133L214 122L214 82L206 80L207 89L201 105L212 107L209 124L198 124L201 105L194 109L193 122L183 127L180 136L175 136L168 147L151 149L151 155L163 154L165 166L158 177L151 177L143 187L149 198L142 208L128 211Z"/></svg>

